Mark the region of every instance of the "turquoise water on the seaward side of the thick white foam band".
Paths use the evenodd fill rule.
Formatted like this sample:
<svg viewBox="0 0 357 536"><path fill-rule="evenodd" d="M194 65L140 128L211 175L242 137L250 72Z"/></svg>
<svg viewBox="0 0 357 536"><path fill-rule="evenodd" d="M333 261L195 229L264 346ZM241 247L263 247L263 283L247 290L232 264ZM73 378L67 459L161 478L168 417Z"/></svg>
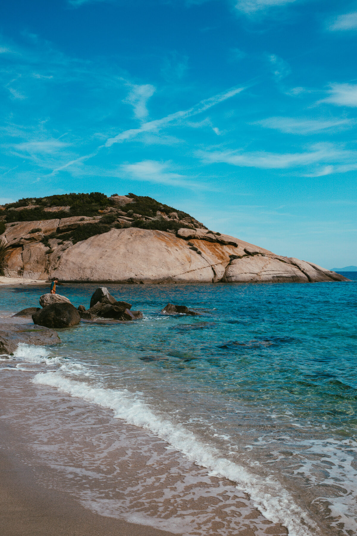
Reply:
<svg viewBox="0 0 357 536"><path fill-rule="evenodd" d="M277 482L276 493L286 490L323 533L357 534L357 276L345 275L352 281L108 285L144 319L59 330L62 344L51 355L62 365L52 384L62 378L71 389L77 382L126 392L141 404L128 420L141 412L138 424L156 426L168 441L171 432L154 426L154 418L184 427L199 450L213 449L216 459L260 482ZM88 308L97 286L57 290ZM3 287L2 315L36 306L43 293L43 287ZM201 316L161 315L168 302ZM232 475L225 474L242 489L246 479L250 493L252 482ZM281 509L273 500L265 507Z"/></svg>

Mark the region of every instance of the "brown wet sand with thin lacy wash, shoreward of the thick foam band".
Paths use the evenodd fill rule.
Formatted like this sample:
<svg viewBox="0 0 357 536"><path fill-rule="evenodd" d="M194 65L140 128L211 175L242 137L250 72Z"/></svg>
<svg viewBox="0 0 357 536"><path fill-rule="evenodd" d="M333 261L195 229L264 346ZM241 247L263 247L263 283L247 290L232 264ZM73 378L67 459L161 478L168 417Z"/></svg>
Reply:
<svg viewBox="0 0 357 536"><path fill-rule="evenodd" d="M0 370L4 536L287 534L233 482L106 408L34 385L42 364L14 364Z"/></svg>

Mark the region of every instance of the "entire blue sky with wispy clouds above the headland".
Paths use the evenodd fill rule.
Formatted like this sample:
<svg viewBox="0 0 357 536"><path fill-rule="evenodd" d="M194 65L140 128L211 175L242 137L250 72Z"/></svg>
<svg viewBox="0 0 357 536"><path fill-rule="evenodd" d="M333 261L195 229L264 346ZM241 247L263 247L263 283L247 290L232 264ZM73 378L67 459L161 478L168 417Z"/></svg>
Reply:
<svg viewBox="0 0 357 536"><path fill-rule="evenodd" d="M357 264L356 2L0 13L0 203L133 192L280 255Z"/></svg>

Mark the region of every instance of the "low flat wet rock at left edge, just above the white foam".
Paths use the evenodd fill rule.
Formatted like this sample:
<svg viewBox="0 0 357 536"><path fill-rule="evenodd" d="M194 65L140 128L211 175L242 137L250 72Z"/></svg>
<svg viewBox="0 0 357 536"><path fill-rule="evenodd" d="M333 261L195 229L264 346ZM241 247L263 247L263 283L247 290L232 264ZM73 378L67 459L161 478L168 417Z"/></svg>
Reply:
<svg viewBox="0 0 357 536"><path fill-rule="evenodd" d="M40 309L42 310L42 309ZM36 346L60 343L58 333L33 324L0 324L0 354L12 354L20 343Z"/></svg>

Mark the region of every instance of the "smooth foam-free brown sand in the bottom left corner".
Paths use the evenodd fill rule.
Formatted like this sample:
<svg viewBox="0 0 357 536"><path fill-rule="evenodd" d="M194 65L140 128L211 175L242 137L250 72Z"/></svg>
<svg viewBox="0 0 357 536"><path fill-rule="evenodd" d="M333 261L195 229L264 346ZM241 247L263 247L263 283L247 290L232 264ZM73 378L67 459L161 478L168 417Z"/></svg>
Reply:
<svg viewBox="0 0 357 536"><path fill-rule="evenodd" d="M6 441L0 427L0 440ZM72 497L42 488L16 452L0 452L0 526L3 536L165 536L171 533L100 516Z"/></svg>

